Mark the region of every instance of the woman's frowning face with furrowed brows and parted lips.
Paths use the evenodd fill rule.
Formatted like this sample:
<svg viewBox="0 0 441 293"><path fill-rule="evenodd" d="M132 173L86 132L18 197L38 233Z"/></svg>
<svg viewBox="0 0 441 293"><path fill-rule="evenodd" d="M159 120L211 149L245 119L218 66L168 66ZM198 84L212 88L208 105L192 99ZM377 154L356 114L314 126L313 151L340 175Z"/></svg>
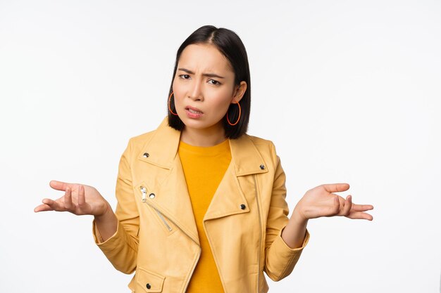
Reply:
<svg viewBox="0 0 441 293"><path fill-rule="evenodd" d="M216 46L187 46L173 79L175 108L185 128L223 132L221 119L247 88L245 82L241 84L235 86L235 73Z"/></svg>

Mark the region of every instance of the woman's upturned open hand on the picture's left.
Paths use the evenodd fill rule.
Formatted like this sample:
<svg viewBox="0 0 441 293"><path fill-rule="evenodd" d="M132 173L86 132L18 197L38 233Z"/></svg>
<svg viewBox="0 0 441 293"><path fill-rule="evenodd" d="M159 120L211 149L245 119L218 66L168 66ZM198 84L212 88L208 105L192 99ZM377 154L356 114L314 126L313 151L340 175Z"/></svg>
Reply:
<svg viewBox="0 0 441 293"><path fill-rule="evenodd" d="M51 181L51 188L64 191L58 200L44 198L43 204L35 207L34 211L69 211L76 215L103 216L111 210L110 205L97 189L89 185Z"/></svg>

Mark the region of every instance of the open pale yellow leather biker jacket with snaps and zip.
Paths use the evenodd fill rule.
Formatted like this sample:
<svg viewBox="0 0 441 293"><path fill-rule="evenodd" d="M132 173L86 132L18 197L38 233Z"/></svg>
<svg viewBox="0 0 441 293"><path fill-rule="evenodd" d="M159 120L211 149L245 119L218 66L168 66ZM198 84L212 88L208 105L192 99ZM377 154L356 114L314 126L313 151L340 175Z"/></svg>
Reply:
<svg viewBox="0 0 441 293"><path fill-rule="evenodd" d="M201 248L178 155L180 131L167 118L130 138L120 159L118 229L94 240L113 266L135 276L132 292L185 292ZM268 292L290 275L309 240L291 249L280 236L288 222L285 173L271 141L244 134L229 141L231 163L204 216L225 293ZM207 288L209 292L209 288Z"/></svg>

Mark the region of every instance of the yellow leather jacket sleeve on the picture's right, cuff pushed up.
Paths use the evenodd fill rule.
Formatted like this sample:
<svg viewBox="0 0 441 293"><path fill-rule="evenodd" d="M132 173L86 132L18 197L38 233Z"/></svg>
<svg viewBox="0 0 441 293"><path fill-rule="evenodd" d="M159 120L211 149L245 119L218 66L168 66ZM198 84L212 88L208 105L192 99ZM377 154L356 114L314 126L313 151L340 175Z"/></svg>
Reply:
<svg viewBox="0 0 441 293"><path fill-rule="evenodd" d="M285 172L280 164L280 158L275 154L275 147L271 143L273 163L275 167L273 193L268 211L266 223L266 257L264 271L273 281L279 281L290 275L295 264L299 260L302 250L309 240L309 232L306 230L302 247L290 248L282 239L282 230L287 225L288 204L285 201Z"/></svg>

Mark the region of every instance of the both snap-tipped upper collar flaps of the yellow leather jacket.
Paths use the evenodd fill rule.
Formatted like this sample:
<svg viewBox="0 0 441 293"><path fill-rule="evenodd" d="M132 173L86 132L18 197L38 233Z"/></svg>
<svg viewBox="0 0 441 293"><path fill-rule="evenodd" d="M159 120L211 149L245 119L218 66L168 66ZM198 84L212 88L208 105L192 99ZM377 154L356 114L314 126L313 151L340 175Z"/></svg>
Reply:
<svg viewBox="0 0 441 293"><path fill-rule="evenodd" d="M178 153L181 131L175 130L168 125L165 117L154 135L144 145L138 158L158 167L171 169ZM231 159L236 176L266 173L266 163L257 150L249 135L244 134L237 139L229 139ZM144 155L147 152L148 157ZM262 167L263 165L263 167Z"/></svg>

